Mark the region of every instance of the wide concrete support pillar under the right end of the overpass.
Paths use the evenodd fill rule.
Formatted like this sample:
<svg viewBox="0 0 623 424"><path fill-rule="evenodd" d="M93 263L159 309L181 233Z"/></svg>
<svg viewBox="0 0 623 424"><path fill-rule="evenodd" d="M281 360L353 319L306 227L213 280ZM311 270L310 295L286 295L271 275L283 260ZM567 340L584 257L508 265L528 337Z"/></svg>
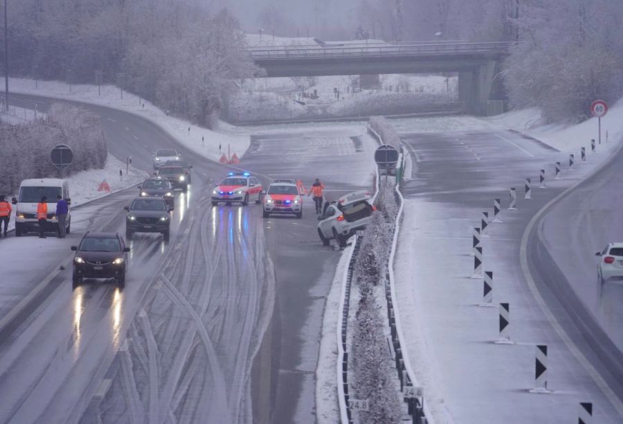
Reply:
<svg viewBox="0 0 623 424"><path fill-rule="evenodd" d="M493 88L496 62L491 60L469 71L460 71L458 76L459 101L468 114L484 115L487 100Z"/></svg>

